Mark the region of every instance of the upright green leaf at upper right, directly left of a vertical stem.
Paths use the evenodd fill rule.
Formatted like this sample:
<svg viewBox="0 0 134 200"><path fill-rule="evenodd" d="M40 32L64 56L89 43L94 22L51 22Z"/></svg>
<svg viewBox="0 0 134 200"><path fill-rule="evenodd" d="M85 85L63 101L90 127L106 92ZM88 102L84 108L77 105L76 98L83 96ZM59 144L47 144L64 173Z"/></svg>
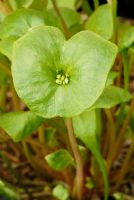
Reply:
<svg viewBox="0 0 134 200"><path fill-rule="evenodd" d="M112 7L109 4L99 6L86 22L86 29L96 32L107 40L111 39L113 35Z"/></svg>

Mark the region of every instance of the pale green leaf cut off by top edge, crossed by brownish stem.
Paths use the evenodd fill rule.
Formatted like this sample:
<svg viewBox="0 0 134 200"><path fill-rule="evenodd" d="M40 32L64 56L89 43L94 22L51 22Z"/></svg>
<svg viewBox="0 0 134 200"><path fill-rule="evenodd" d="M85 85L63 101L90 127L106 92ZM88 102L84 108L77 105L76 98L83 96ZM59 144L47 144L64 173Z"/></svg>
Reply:
<svg viewBox="0 0 134 200"><path fill-rule="evenodd" d="M56 0L57 6L58 7L67 7L67 8L75 8L75 2L76 0ZM51 2L51 0L48 1L48 8L52 8L53 4Z"/></svg>

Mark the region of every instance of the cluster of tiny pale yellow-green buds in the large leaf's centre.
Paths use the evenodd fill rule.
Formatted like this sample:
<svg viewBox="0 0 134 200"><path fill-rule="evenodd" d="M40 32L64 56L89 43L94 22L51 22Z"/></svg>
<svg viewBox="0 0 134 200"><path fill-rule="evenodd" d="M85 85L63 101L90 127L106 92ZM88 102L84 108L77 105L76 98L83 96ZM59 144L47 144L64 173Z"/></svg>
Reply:
<svg viewBox="0 0 134 200"><path fill-rule="evenodd" d="M59 73L56 76L56 81L58 85L67 85L69 83L69 75Z"/></svg>

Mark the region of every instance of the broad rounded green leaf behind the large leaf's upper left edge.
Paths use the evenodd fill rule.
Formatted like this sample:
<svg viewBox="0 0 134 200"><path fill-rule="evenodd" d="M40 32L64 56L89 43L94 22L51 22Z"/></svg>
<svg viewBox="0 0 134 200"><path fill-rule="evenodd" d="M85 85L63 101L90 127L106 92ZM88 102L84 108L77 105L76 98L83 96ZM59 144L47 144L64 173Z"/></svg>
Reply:
<svg viewBox="0 0 134 200"><path fill-rule="evenodd" d="M40 11L22 8L5 18L0 25L0 38L21 37L31 28L44 24L44 16Z"/></svg>

